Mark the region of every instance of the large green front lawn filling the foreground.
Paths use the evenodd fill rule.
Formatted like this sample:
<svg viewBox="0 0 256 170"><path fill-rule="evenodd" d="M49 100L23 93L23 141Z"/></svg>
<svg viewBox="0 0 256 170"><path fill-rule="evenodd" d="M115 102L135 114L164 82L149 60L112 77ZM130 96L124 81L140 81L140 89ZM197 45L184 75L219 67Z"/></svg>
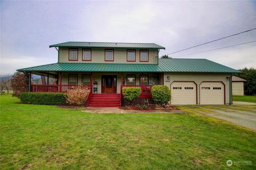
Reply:
<svg viewBox="0 0 256 170"><path fill-rule="evenodd" d="M256 133L199 114L92 114L1 95L1 169L256 169Z"/></svg>

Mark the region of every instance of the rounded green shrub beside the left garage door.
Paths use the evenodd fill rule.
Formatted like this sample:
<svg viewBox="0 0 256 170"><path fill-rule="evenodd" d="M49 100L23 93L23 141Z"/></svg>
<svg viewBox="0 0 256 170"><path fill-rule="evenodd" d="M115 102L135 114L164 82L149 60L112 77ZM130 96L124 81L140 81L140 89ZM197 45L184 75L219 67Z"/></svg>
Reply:
<svg viewBox="0 0 256 170"><path fill-rule="evenodd" d="M171 100L171 90L165 85L156 85L151 88L153 100L159 104L166 104Z"/></svg>

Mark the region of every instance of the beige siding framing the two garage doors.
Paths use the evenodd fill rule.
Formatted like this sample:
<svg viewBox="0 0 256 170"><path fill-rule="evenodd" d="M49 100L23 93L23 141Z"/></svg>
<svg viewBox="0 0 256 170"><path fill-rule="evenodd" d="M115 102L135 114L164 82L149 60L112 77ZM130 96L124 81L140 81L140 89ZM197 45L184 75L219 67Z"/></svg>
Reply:
<svg viewBox="0 0 256 170"><path fill-rule="evenodd" d="M167 76L170 77L167 80ZM173 81L194 81L197 84L197 104L199 103L200 90L199 85L203 81L219 81L225 84L225 95L226 95L226 104L229 104L229 80L227 77L230 77L230 74L218 74L218 73L164 73L164 84L167 87L171 87Z"/></svg>

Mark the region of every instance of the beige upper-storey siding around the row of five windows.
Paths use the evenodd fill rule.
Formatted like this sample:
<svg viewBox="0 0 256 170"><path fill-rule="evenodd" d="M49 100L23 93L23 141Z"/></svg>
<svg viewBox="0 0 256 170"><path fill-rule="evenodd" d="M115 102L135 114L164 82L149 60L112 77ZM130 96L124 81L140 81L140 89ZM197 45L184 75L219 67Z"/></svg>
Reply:
<svg viewBox="0 0 256 170"><path fill-rule="evenodd" d="M114 49L114 62L105 62L105 49L92 48L92 61L82 61L82 48L78 48L78 61L68 61L69 48L59 48L60 63L129 63L157 64L157 49L149 49L149 61L140 62L140 50L136 50L136 62L126 61L126 49Z"/></svg>

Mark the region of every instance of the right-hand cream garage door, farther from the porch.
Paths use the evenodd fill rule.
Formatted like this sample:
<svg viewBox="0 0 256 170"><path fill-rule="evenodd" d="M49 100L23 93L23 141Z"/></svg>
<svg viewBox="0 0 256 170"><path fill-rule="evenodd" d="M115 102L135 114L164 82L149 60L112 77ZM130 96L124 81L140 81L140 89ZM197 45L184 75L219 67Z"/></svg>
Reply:
<svg viewBox="0 0 256 170"><path fill-rule="evenodd" d="M223 105L224 85L222 82L202 82L200 84L201 105Z"/></svg>

